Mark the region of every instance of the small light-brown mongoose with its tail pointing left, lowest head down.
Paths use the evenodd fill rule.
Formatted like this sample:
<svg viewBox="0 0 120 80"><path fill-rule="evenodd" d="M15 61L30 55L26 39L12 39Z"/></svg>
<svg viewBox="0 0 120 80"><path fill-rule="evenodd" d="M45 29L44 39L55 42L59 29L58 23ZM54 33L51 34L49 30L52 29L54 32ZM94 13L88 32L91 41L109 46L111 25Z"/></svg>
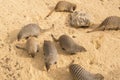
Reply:
<svg viewBox="0 0 120 80"><path fill-rule="evenodd" d="M25 48L22 48L20 46L16 46L19 49L26 50L28 54L34 58L35 54L39 51L39 44L36 41L35 37L29 37L27 39Z"/></svg>

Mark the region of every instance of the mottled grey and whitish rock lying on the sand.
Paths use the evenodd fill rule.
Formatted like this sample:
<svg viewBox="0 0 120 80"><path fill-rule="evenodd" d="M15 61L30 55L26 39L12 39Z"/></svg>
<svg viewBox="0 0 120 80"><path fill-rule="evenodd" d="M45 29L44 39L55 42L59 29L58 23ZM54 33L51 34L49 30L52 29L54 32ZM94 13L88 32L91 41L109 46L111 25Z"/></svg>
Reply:
<svg viewBox="0 0 120 80"><path fill-rule="evenodd" d="M75 28L86 28L92 24L90 16L81 11L75 11L70 14L70 25Z"/></svg>

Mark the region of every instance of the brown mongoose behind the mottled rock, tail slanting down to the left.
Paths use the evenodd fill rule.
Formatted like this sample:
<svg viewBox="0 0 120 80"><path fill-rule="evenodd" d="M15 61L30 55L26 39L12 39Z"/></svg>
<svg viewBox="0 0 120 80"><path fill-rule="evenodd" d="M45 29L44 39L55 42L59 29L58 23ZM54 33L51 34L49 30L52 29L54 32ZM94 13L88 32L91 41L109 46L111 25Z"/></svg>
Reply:
<svg viewBox="0 0 120 80"><path fill-rule="evenodd" d="M73 12L76 9L76 5L67 1L59 1L55 8L45 17L49 17L54 11L56 12Z"/></svg>

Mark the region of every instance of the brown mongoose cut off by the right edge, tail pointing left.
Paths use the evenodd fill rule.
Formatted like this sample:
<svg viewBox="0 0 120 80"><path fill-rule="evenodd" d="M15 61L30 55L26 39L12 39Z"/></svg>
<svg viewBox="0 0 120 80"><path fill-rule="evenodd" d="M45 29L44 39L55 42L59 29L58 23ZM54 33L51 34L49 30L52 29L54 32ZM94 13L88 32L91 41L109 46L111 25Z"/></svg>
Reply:
<svg viewBox="0 0 120 80"><path fill-rule="evenodd" d="M109 16L97 28L88 31L87 33L104 30L120 30L120 17Z"/></svg>

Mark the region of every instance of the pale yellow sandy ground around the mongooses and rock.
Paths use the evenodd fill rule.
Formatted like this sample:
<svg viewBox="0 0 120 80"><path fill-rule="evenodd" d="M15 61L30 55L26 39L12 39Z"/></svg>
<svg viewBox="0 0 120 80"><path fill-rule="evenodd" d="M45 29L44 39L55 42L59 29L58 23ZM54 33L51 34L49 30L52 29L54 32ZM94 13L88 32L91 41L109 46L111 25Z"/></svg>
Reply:
<svg viewBox="0 0 120 80"><path fill-rule="evenodd" d="M77 11L85 11L99 24L108 16L120 16L120 0L67 0L77 4ZM72 60L92 73L101 73L105 80L120 80L120 31L74 29L67 24L69 13L54 12L47 20L44 17L58 0L0 0L0 80L72 80L68 66ZM40 52L34 59L17 49L16 36L26 24L37 23L42 29L55 25L49 32L38 37ZM74 41L84 46L87 52L67 55L56 44L59 52L57 65L46 71L43 56L43 41L58 38L62 34L76 36Z"/></svg>

